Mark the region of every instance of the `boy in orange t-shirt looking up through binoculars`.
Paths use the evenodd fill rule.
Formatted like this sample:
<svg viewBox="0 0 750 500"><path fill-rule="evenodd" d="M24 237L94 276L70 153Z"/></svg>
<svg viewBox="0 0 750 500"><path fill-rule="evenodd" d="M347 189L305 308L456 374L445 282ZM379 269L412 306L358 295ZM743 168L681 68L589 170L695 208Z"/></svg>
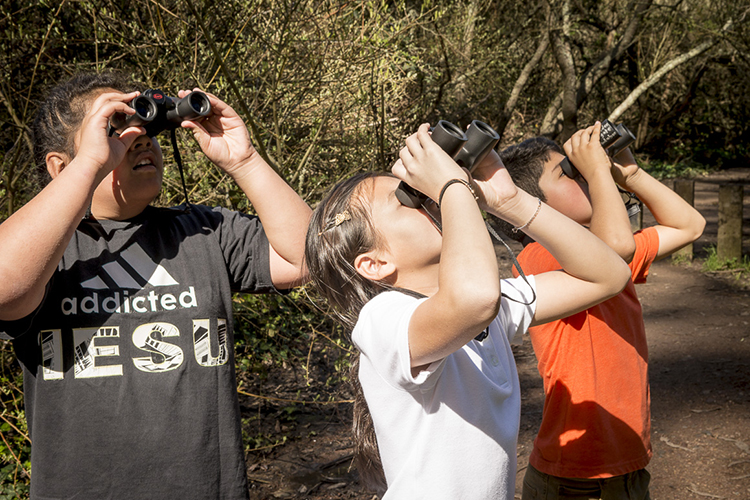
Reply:
<svg viewBox="0 0 750 500"><path fill-rule="evenodd" d="M638 168L629 150L618 155L619 163L611 161L599 142L600 130L599 122L579 130L564 152L537 137L500 153L516 185L587 226L632 272L616 297L529 330L545 401L523 500L649 498L648 347L634 284L646 281L654 260L695 241L705 220ZM581 174L576 179L562 171L565 154ZM617 184L635 193L658 225L633 234ZM544 247L524 244L518 256L524 272L559 269Z"/></svg>

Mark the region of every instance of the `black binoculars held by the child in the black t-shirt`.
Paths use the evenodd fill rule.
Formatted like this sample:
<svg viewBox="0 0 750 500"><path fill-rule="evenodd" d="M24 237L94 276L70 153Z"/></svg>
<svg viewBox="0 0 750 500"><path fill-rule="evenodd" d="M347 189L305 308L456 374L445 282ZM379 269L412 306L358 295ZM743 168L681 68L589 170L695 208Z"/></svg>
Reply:
<svg viewBox="0 0 750 500"><path fill-rule="evenodd" d="M163 130L179 128L185 120L197 120L211 114L211 102L200 91L190 92L179 99L168 97L159 89L148 89L130 101L130 107L135 110L135 114L112 115L109 121L112 131L143 127L146 135L154 137Z"/></svg>

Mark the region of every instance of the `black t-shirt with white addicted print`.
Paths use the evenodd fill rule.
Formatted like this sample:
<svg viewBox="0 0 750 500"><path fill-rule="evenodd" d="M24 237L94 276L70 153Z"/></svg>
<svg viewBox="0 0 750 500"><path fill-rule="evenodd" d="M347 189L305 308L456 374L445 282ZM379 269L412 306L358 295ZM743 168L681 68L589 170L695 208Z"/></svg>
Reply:
<svg viewBox="0 0 750 500"><path fill-rule="evenodd" d="M260 221L149 207L84 220L29 318L32 499L247 498L232 292L269 292Z"/></svg>

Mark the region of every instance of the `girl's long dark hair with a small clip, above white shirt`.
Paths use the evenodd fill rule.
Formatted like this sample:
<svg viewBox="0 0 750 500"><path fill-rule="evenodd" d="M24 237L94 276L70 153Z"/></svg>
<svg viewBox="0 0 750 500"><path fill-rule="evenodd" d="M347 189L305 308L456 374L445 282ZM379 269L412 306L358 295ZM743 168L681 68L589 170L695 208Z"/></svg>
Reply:
<svg viewBox="0 0 750 500"><path fill-rule="evenodd" d="M384 175L388 174L357 174L335 185L313 211L307 232L305 259L311 281L349 332L362 307L389 288L385 283L364 278L354 268L358 255L385 244L372 225L365 193L373 178ZM350 377L354 392L354 464L363 484L375 491L385 491L375 427L359 384L359 357L357 353Z"/></svg>

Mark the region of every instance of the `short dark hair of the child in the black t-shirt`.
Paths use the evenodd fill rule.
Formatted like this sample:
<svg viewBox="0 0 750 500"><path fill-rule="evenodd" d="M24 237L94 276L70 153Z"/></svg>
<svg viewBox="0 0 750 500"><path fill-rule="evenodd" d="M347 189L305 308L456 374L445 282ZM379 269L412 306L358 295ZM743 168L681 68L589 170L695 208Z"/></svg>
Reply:
<svg viewBox="0 0 750 500"><path fill-rule="evenodd" d="M34 136L34 161L42 185L49 182L47 153L65 153L75 156L74 137L88 110L88 98L100 89L120 92L142 90L140 85L116 71L104 73L79 73L53 87L36 112L32 133Z"/></svg>

